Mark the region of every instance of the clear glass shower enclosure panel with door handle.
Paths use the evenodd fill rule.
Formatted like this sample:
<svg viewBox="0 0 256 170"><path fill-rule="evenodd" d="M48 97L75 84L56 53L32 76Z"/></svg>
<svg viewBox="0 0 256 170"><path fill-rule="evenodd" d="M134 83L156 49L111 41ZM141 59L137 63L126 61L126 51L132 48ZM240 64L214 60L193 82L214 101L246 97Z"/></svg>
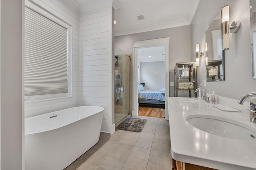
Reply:
<svg viewBox="0 0 256 170"><path fill-rule="evenodd" d="M114 49L114 93L115 93L115 123L126 118L131 113L130 107L130 80L131 59L121 49Z"/></svg>

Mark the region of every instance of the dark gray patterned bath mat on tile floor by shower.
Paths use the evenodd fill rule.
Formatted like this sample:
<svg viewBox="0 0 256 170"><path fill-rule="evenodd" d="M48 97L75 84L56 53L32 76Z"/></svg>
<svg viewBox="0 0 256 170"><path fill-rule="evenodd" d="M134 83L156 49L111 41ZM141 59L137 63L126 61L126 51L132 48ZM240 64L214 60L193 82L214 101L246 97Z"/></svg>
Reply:
<svg viewBox="0 0 256 170"><path fill-rule="evenodd" d="M129 118L118 129L124 131L141 132L147 119Z"/></svg>

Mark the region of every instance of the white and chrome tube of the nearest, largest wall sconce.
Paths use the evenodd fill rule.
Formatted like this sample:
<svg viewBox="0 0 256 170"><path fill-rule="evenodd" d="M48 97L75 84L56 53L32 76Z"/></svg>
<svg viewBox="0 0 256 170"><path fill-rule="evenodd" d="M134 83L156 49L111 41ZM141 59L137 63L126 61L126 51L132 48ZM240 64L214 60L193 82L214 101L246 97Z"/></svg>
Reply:
<svg viewBox="0 0 256 170"><path fill-rule="evenodd" d="M229 49L229 6L222 7L221 10L222 22L222 49Z"/></svg>

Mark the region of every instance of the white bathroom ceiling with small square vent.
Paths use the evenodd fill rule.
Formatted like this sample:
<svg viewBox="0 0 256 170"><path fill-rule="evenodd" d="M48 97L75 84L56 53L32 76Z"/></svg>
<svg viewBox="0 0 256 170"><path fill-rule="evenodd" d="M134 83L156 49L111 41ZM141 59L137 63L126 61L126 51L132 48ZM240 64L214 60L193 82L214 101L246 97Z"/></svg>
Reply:
<svg viewBox="0 0 256 170"><path fill-rule="evenodd" d="M69 1L69 0L64 0ZM200 0L71 0L78 4L112 3L115 36L190 25ZM87 5L86 4L86 5ZM76 7L77 8L77 7ZM81 8L80 8L81 12ZM144 15L144 20L136 16Z"/></svg>

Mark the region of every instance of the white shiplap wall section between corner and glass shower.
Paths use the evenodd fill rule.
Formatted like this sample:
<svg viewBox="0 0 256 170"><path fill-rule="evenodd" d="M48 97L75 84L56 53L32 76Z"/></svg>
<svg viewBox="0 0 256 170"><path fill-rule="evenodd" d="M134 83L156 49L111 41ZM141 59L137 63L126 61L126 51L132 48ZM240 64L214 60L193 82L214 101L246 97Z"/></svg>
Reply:
<svg viewBox="0 0 256 170"><path fill-rule="evenodd" d="M81 12L81 9L80 9ZM80 106L102 106L101 131L112 125L112 6L80 13Z"/></svg>

